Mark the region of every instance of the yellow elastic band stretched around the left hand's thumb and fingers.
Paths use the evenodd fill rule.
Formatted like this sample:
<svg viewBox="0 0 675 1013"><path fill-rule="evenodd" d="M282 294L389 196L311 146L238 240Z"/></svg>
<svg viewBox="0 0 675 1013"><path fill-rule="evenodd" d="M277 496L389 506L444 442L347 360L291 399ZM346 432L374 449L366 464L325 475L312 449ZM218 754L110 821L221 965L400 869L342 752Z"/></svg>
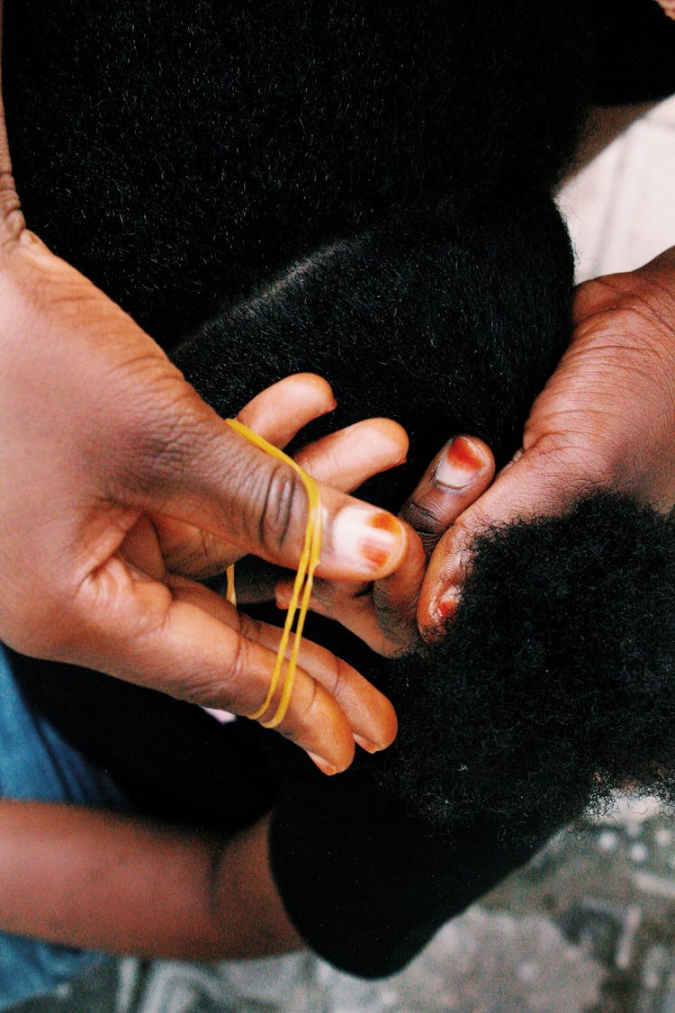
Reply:
<svg viewBox="0 0 675 1013"><path fill-rule="evenodd" d="M300 601L300 612L298 615L298 623L296 625L294 640L290 657L288 659L285 678L283 680L281 698L274 715L269 719L269 721L260 722L265 728L275 728L285 717L288 704L290 703L290 694L292 693L296 668L298 665L298 652L300 650L301 637L303 635L303 627L305 626L307 611L310 606L312 585L314 583L314 571L317 568L321 554L321 497L314 479L303 471L301 466L296 464L292 458L284 454L283 451L280 451L278 447L274 447L273 444L263 440L262 437L259 437L257 433L249 430L248 426L238 422L237 419L226 418L226 421L228 425L231 425L236 433L239 433L240 436L244 437L250 443L255 444L255 446L259 447L261 450L264 450L267 454L271 455L271 457L275 457L277 460L284 461L288 464L302 478L309 499L307 528L305 529L305 545L303 546L303 552L298 564L298 573L296 574L292 595L290 596L290 603L286 613L286 621L283 624L281 640L276 652L276 661L274 664L274 669L272 670L272 678L269 683L269 689L267 690L267 696L263 700L260 707L258 707L253 714L248 715L252 720L256 721L259 717L262 717L274 698L279 682L279 676L281 674L281 666L283 665L283 657L286 651L288 637L290 636L292 624L296 619L296 612L298 611L298 603ZM228 601L232 602L233 605L237 604L234 566L228 567Z"/></svg>

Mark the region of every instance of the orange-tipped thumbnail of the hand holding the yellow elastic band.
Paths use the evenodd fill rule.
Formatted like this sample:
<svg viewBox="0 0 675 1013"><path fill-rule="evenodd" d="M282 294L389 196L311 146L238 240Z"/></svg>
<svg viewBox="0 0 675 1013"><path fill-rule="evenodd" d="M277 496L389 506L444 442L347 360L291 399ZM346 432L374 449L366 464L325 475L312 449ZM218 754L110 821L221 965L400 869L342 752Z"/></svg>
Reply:
<svg viewBox="0 0 675 1013"><path fill-rule="evenodd" d="M381 570L398 559L406 543L403 527L391 514L367 506L346 506L333 523L333 548L359 568Z"/></svg>

